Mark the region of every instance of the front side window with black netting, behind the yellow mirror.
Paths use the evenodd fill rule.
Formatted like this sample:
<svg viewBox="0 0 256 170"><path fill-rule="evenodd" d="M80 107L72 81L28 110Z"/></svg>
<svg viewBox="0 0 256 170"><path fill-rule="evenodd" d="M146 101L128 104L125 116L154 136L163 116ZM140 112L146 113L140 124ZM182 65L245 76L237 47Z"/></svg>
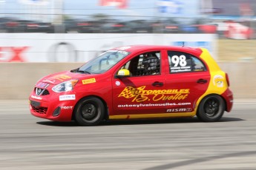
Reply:
<svg viewBox="0 0 256 170"><path fill-rule="evenodd" d="M123 65L122 69L129 69L131 76L160 75L160 51L137 55Z"/></svg>

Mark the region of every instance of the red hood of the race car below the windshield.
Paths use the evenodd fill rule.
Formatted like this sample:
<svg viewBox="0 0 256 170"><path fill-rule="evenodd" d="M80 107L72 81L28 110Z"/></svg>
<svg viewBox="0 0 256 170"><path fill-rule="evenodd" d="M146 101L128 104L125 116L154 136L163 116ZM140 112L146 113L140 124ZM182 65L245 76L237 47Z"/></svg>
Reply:
<svg viewBox="0 0 256 170"><path fill-rule="evenodd" d="M76 72L70 72L70 71L65 71L65 72L57 72L52 75L47 75L44 78L40 80L40 82L43 82L45 84L60 84L65 81L70 81L70 80L79 80L79 79L85 79L85 78L91 78L93 75L90 74L81 74L81 73L76 73ZM94 75L95 77L95 75Z"/></svg>

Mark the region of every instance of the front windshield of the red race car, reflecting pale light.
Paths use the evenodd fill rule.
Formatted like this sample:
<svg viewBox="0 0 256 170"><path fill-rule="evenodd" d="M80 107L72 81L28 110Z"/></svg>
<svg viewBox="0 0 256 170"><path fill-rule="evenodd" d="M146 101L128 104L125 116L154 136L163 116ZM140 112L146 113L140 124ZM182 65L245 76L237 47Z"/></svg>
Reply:
<svg viewBox="0 0 256 170"><path fill-rule="evenodd" d="M77 72L88 74L100 74L106 72L129 54L130 52L122 50L108 50L99 55L99 57L93 58L87 64L84 64L77 70Z"/></svg>

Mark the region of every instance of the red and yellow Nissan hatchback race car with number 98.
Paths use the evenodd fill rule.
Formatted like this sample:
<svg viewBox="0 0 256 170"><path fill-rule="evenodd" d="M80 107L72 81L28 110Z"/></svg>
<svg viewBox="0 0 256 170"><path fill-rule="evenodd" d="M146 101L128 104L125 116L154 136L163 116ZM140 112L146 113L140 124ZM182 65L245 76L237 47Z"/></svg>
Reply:
<svg viewBox="0 0 256 170"><path fill-rule="evenodd" d="M82 67L47 75L30 94L32 115L94 126L102 120L220 120L233 105L228 75L208 50L137 45L108 50Z"/></svg>

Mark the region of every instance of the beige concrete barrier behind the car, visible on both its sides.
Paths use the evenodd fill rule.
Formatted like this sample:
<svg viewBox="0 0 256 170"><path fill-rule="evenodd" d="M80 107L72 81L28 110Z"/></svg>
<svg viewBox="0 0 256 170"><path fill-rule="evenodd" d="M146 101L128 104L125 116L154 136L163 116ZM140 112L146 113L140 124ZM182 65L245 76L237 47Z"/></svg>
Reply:
<svg viewBox="0 0 256 170"><path fill-rule="evenodd" d="M82 63L1 63L0 100L27 99L39 78L81 65ZM221 62L219 65L229 74L234 98L256 98L256 63Z"/></svg>

